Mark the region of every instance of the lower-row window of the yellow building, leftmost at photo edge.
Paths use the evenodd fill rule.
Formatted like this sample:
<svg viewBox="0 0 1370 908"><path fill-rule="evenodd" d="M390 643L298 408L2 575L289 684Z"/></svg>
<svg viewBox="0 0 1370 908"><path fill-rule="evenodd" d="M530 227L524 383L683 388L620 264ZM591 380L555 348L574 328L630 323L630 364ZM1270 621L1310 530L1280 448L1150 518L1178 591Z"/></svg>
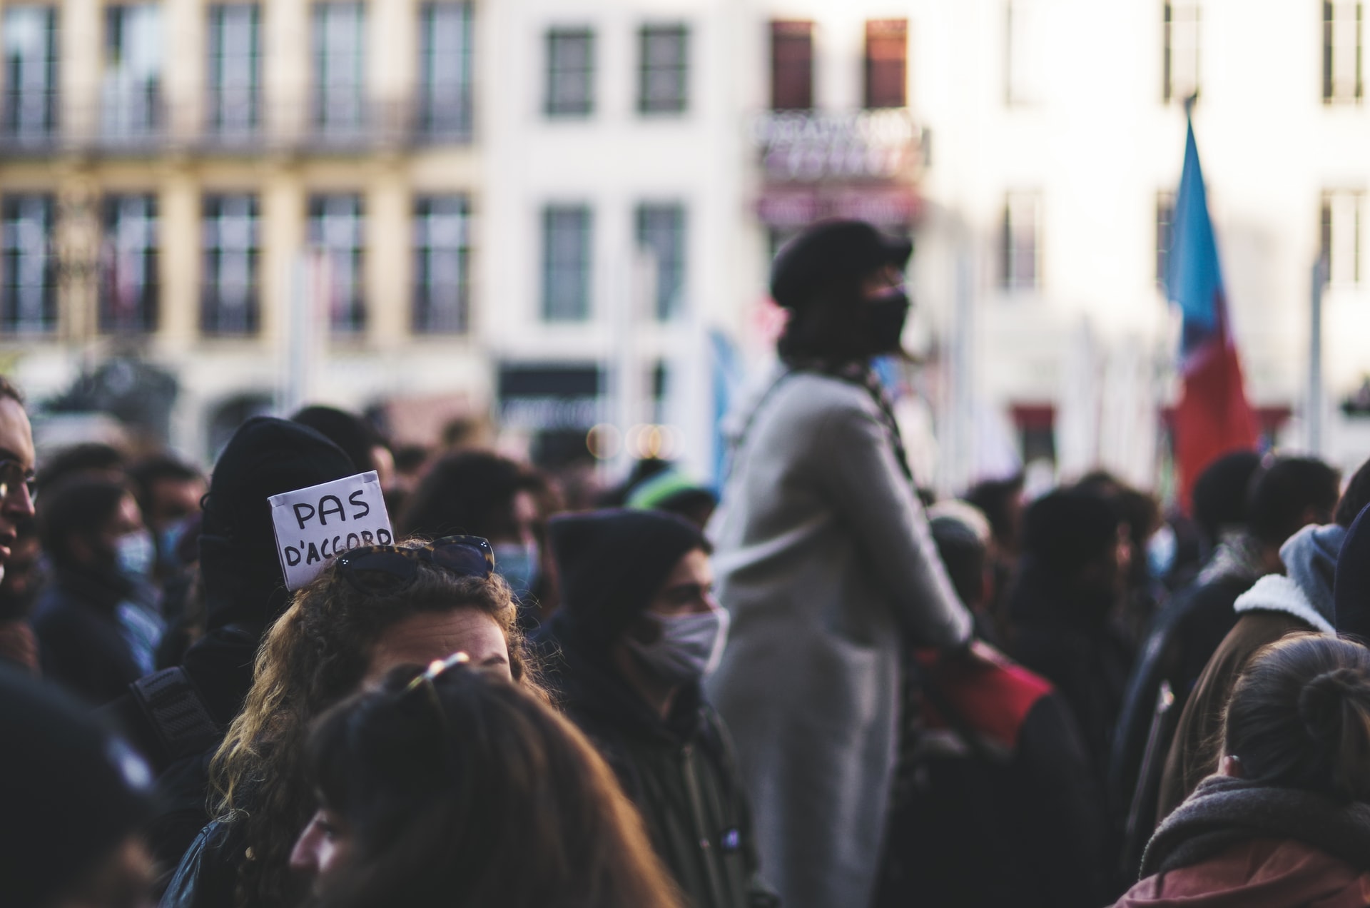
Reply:
<svg viewBox="0 0 1370 908"><path fill-rule="evenodd" d="M56 255L51 195L0 199L0 328L47 335L58 328Z"/></svg>

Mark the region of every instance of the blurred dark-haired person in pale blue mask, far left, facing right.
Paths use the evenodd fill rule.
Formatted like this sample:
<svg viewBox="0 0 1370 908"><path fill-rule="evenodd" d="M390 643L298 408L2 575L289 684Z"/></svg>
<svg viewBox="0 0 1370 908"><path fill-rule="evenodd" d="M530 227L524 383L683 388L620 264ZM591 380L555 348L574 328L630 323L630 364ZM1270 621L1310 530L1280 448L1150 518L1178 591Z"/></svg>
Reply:
<svg viewBox="0 0 1370 908"><path fill-rule="evenodd" d="M33 610L42 675L93 706L108 704L153 669L166 630L152 536L122 483L81 475L42 498L38 536L52 564Z"/></svg>

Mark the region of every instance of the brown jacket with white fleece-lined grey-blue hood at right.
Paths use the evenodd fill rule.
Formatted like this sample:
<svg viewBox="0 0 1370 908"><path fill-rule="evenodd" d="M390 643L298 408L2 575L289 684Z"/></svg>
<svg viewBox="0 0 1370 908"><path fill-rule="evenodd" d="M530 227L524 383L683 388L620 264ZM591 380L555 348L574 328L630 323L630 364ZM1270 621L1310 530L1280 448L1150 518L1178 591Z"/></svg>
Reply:
<svg viewBox="0 0 1370 908"><path fill-rule="evenodd" d="M1218 768L1222 712L1237 678L1262 646L1296 631L1334 634L1333 576L1347 531L1304 527L1280 549L1284 575L1260 577L1233 605L1237 621L1185 702L1160 778L1156 816L1164 817Z"/></svg>

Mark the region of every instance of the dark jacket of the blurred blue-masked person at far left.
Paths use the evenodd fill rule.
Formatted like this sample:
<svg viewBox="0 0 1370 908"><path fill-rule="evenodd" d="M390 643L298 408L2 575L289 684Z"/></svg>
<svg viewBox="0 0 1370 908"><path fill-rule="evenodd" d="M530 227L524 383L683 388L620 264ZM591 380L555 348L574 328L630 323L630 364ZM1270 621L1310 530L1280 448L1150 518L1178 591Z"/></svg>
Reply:
<svg viewBox="0 0 1370 908"><path fill-rule="evenodd" d="M114 569L58 568L33 612L42 675L95 706L121 697L145 671L130 623L160 636L140 593Z"/></svg>

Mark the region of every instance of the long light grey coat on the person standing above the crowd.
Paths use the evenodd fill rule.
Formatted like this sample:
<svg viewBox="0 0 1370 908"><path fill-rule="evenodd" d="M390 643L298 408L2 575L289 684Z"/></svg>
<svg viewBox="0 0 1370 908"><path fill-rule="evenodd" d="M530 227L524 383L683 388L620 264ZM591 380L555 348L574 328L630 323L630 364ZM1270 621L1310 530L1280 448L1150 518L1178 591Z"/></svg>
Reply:
<svg viewBox="0 0 1370 908"><path fill-rule="evenodd" d="M762 875L786 908L864 908L899 745L900 649L971 634L860 385L789 373L741 411L710 525L732 614L710 695L737 745Z"/></svg>

